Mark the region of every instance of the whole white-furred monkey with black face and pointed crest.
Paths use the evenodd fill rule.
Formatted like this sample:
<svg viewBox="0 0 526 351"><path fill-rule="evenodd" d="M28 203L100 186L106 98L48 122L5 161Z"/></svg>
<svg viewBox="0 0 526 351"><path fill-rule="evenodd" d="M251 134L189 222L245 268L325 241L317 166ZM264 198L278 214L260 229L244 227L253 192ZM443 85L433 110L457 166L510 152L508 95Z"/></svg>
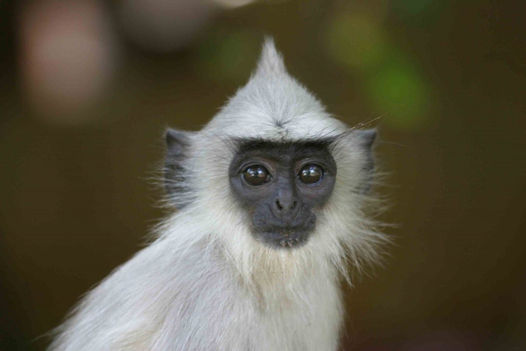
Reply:
<svg viewBox="0 0 526 351"><path fill-rule="evenodd" d="M329 115L267 39L201 131L166 132L174 214L50 350L337 349L341 278L385 241L364 210L375 135Z"/></svg>

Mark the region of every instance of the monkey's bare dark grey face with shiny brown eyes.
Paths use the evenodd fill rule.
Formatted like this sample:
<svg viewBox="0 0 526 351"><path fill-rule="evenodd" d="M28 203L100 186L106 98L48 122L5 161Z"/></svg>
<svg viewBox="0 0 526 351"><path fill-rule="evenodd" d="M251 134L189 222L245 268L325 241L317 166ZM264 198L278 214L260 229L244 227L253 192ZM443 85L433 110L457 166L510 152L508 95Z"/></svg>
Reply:
<svg viewBox="0 0 526 351"><path fill-rule="evenodd" d="M307 243L312 210L332 193L336 163L326 142L239 143L229 169L230 188L251 218L252 235L273 248Z"/></svg>

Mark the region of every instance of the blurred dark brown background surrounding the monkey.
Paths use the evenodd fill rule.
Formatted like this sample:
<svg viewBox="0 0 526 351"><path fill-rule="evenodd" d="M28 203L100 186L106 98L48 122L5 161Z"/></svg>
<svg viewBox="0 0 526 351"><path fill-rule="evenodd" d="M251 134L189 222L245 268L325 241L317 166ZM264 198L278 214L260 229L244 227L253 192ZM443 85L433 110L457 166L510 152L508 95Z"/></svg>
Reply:
<svg viewBox="0 0 526 351"><path fill-rule="evenodd" d="M380 131L395 238L343 349L526 349L526 3L0 2L0 350L39 350L164 214L166 126L198 129L264 35Z"/></svg>

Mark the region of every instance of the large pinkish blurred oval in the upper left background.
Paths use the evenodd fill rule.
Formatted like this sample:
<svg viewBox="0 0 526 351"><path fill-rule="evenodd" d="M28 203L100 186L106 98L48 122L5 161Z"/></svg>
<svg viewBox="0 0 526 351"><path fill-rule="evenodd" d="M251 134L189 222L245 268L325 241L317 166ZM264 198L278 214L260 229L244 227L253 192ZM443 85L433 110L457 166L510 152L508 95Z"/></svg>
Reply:
<svg viewBox="0 0 526 351"><path fill-rule="evenodd" d="M106 9L95 1L44 1L22 7L22 87L37 115L83 124L115 68Z"/></svg>

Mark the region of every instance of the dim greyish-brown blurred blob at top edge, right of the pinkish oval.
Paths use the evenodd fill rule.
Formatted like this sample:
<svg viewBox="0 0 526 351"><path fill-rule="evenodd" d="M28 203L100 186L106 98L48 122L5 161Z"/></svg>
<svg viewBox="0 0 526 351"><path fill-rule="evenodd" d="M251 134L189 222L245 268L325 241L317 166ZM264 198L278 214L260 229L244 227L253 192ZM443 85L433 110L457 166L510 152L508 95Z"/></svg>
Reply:
<svg viewBox="0 0 526 351"><path fill-rule="evenodd" d="M123 0L119 15L127 36L156 52L185 47L213 13L209 0Z"/></svg>

